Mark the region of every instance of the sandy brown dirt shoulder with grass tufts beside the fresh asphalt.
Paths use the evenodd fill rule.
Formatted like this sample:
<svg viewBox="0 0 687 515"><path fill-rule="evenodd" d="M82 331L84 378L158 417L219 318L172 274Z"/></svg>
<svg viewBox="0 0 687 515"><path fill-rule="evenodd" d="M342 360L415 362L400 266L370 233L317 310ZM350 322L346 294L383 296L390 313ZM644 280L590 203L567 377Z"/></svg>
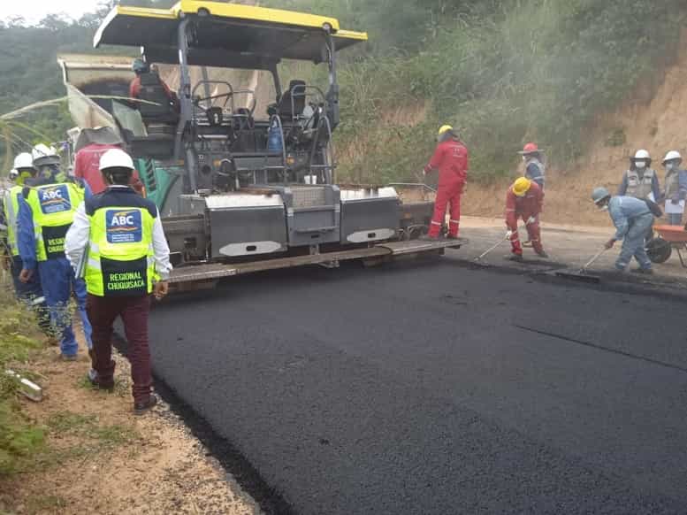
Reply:
<svg viewBox="0 0 687 515"><path fill-rule="evenodd" d="M45 399L22 404L46 444L21 473L0 477L0 513L260 513L169 406L134 416L124 357L107 394L84 380L86 356L63 363L57 354L43 350L27 367Z"/></svg>

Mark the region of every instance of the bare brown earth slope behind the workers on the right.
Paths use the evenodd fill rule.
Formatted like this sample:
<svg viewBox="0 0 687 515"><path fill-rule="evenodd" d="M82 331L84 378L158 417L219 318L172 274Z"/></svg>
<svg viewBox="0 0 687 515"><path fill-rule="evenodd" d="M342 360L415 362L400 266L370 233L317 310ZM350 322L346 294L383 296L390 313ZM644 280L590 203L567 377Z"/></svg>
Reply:
<svg viewBox="0 0 687 515"><path fill-rule="evenodd" d="M650 99L640 88L619 111L600 117L589 138L583 158L564 169L551 169L546 184L546 219L560 223L606 225L606 217L592 209L589 195L594 186L612 192L618 187L628 159L638 149L649 150L653 167L663 179L660 161L668 150L679 150L687 162L687 33L675 65ZM517 149L514 149L514 152ZM521 170L514 170L515 179ZM662 184L662 181L661 181ZM469 186L465 212L475 216L500 216L508 181L496 185Z"/></svg>

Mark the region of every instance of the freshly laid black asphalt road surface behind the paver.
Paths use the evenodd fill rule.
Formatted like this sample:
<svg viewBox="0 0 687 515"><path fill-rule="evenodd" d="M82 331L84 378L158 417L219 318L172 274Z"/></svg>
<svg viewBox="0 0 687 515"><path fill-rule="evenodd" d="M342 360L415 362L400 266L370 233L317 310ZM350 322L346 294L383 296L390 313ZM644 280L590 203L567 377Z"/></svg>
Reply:
<svg viewBox="0 0 687 515"><path fill-rule="evenodd" d="M156 373L302 514L684 513L685 304L447 258L170 299Z"/></svg>

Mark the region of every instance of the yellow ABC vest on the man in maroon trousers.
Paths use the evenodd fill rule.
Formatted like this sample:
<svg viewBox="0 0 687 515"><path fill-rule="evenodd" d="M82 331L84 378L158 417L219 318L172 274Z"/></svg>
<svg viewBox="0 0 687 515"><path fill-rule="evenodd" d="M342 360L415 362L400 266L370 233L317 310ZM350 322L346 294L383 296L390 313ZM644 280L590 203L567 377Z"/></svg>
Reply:
<svg viewBox="0 0 687 515"><path fill-rule="evenodd" d="M90 220L86 287L95 296L138 296L156 281L153 218L140 207L102 207Z"/></svg>

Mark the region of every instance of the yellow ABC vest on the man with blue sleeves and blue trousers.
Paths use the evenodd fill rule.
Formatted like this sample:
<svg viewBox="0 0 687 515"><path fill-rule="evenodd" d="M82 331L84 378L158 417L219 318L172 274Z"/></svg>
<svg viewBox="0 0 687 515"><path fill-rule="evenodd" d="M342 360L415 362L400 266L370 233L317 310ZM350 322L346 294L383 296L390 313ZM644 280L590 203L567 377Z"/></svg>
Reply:
<svg viewBox="0 0 687 515"><path fill-rule="evenodd" d="M36 259L65 258L65 235L83 202L83 188L73 182L59 182L24 188L24 197L34 218Z"/></svg>

